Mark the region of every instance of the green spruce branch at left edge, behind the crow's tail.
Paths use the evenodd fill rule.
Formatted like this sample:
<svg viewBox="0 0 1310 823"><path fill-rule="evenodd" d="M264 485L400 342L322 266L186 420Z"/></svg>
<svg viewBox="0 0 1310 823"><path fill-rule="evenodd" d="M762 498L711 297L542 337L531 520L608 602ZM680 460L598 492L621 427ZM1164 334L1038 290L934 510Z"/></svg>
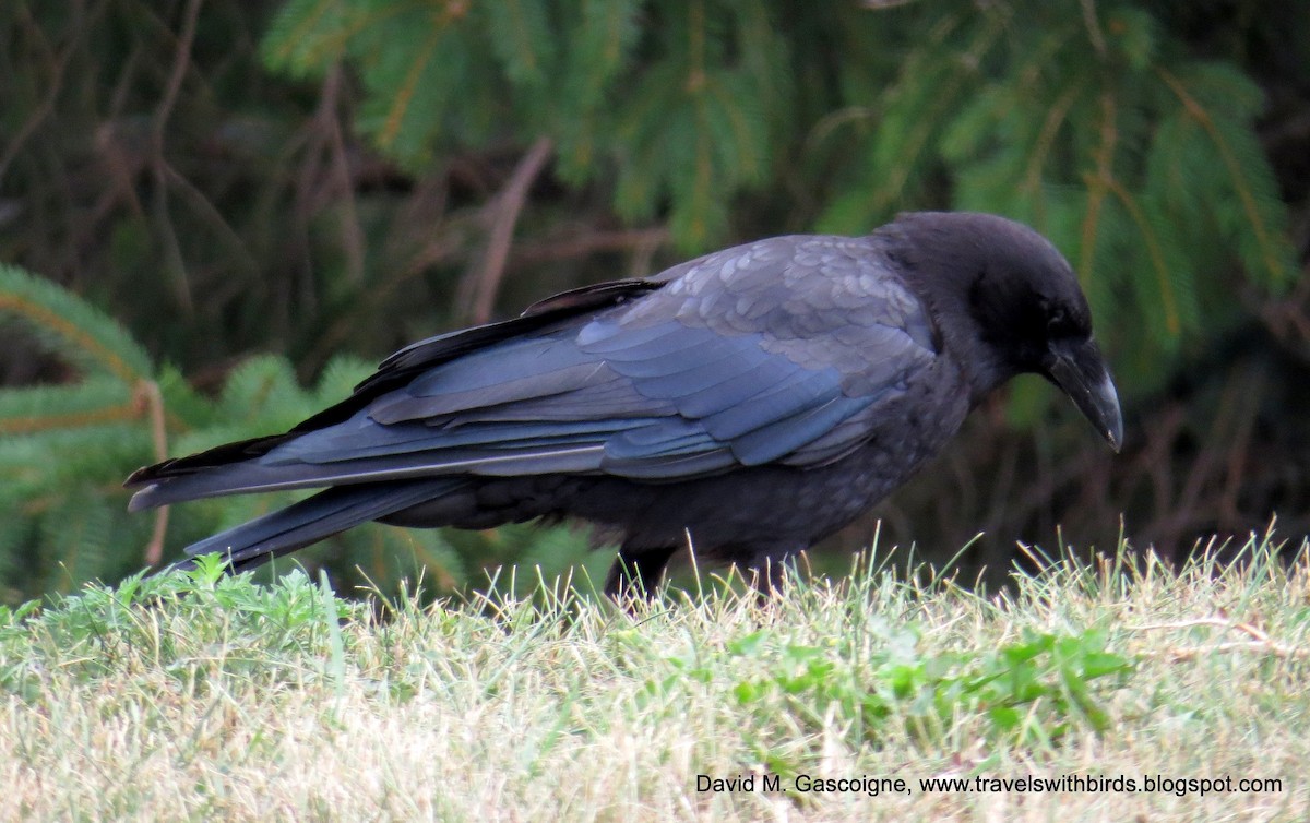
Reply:
<svg viewBox="0 0 1310 823"><path fill-rule="evenodd" d="M18 317L81 380L0 392L0 600L121 575L109 543L139 540L148 522L115 518L106 486L149 453L153 370L114 321L12 266L0 266L0 321ZM110 486L111 488L111 486ZM126 537L126 540L124 540Z"/></svg>

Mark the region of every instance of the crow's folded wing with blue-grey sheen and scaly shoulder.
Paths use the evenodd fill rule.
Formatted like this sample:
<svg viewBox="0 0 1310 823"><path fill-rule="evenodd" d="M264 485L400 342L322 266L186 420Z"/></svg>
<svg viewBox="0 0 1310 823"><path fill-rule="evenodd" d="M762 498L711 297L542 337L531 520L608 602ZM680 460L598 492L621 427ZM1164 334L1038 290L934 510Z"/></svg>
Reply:
<svg viewBox="0 0 1310 823"><path fill-rule="evenodd" d="M922 307L861 259L867 249L816 240L838 242L720 252L627 305L453 358L458 335L411 346L384 364L407 372L401 385L177 493L457 474L677 481L828 463L869 436L870 415L935 353ZM177 493L160 484L143 503Z"/></svg>

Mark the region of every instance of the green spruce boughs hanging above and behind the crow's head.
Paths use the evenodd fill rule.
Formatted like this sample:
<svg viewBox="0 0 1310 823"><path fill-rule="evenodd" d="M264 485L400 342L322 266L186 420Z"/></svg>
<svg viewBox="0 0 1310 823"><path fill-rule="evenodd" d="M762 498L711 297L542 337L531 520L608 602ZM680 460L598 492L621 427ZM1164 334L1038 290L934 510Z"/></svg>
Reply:
<svg viewBox="0 0 1310 823"><path fill-rule="evenodd" d="M867 229L946 176L951 207L1051 237L1087 290L1120 383L1158 388L1162 359L1241 318L1234 290L1285 288L1297 266L1254 131L1260 89L1230 63L1188 56L1142 7L922 14L927 37L878 94L854 174L820 225Z"/></svg>

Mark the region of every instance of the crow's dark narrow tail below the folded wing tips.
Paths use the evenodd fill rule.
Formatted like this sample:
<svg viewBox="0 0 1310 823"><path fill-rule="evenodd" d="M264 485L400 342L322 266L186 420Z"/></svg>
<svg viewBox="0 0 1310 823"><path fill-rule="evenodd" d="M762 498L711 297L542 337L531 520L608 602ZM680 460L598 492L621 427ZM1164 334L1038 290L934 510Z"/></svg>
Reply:
<svg viewBox="0 0 1310 823"><path fill-rule="evenodd" d="M190 569L195 557L221 552L228 571L238 574L352 526L444 497L466 482L439 477L325 489L299 503L189 545L189 560L173 567Z"/></svg>

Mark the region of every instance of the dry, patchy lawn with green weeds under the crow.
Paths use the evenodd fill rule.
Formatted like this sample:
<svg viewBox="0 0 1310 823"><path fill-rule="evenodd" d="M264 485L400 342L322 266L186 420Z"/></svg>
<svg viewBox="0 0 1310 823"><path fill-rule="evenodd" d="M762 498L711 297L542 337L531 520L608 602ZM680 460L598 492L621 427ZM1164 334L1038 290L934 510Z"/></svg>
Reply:
<svg viewBox="0 0 1310 823"><path fill-rule="evenodd" d="M1000 595L858 566L631 613L559 586L379 609L301 573L89 587L0 609L0 819L1301 820L1289 550L1062 560Z"/></svg>

